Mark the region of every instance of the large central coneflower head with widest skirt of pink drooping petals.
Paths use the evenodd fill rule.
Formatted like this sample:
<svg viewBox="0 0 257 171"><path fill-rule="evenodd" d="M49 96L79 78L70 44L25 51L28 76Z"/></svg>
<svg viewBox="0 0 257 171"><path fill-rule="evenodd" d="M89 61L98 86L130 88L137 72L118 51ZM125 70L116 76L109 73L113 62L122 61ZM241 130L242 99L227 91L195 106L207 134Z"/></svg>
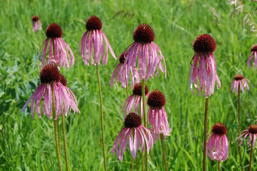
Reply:
<svg viewBox="0 0 257 171"><path fill-rule="evenodd" d="M149 78L159 75L159 69L167 76L165 59L160 48L153 41L155 34L150 25L142 23L134 30L134 42L127 47L127 55L124 61L122 72L130 77L130 72L134 76L137 72L136 59L138 58L139 76L147 81ZM126 51L125 50L125 51ZM164 61L164 67L161 60ZM165 69L164 69L165 68Z"/></svg>

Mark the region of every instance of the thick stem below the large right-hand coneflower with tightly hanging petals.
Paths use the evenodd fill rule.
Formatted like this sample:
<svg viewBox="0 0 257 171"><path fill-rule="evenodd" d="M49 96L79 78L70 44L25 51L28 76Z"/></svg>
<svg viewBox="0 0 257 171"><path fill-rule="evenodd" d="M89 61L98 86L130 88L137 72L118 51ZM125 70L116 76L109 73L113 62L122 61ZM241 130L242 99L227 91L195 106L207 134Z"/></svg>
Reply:
<svg viewBox="0 0 257 171"><path fill-rule="evenodd" d="M209 114L209 96L208 96L207 98L205 98L203 171L206 171L206 150L207 150L208 114Z"/></svg>

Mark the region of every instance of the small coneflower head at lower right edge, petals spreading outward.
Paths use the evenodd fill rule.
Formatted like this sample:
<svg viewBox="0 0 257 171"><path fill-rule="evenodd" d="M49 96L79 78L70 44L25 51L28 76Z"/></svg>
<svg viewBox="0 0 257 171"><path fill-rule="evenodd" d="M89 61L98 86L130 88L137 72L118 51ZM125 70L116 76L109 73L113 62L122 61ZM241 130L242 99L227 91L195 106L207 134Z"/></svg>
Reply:
<svg viewBox="0 0 257 171"><path fill-rule="evenodd" d="M257 136L257 125L251 125L248 127L248 129L244 130L241 132L241 135L236 139L236 141L238 139L240 139L241 137L244 136L244 138L241 140L239 146L241 146L241 144L243 143L243 141L245 140L245 138L249 135L249 145L248 148L250 148L250 144L252 142L252 138L253 138L253 147L255 146L255 141L256 141L256 136Z"/></svg>

